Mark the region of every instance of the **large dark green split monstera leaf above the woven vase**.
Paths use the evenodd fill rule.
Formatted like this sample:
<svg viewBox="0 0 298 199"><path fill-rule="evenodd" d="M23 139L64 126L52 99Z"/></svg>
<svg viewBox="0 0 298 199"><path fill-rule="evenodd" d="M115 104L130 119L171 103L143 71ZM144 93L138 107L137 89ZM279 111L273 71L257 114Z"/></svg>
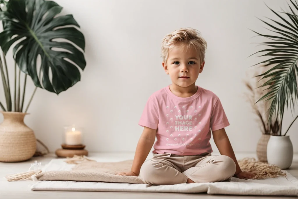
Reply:
<svg viewBox="0 0 298 199"><path fill-rule="evenodd" d="M6 54L14 44L14 59L35 86L59 94L80 81L85 39L73 16L57 16L62 7L53 1L10 0L6 6L0 46Z"/></svg>

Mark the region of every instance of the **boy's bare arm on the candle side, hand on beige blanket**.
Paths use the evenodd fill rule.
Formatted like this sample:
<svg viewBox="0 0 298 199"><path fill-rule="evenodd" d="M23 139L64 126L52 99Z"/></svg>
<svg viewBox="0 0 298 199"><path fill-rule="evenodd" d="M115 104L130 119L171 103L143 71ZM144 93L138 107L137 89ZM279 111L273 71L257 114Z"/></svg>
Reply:
<svg viewBox="0 0 298 199"><path fill-rule="evenodd" d="M136 146L134 161L131 167L131 172L120 172L117 175L135 175L139 176L142 164L145 162L155 141L156 129L144 127L142 135Z"/></svg>

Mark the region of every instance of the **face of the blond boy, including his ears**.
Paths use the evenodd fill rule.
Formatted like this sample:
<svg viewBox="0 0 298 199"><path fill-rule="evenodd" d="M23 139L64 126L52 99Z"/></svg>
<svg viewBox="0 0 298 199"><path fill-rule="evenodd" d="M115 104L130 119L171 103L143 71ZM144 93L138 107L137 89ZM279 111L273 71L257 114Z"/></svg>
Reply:
<svg viewBox="0 0 298 199"><path fill-rule="evenodd" d="M180 87L195 85L199 73L203 71L205 62L200 60L199 54L191 47L183 44L176 45L169 50L167 63L162 62L165 72L170 75L172 84Z"/></svg>

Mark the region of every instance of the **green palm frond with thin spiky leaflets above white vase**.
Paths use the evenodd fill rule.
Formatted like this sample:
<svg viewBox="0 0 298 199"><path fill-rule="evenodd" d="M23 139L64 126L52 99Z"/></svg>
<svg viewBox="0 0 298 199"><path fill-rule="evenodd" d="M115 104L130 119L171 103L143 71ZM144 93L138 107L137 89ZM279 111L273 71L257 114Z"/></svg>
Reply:
<svg viewBox="0 0 298 199"><path fill-rule="evenodd" d="M292 0L290 1L296 11L298 11L297 2L295 5ZM298 18L294 9L292 9L290 5L289 7L291 12L283 12L288 18L285 18L286 16L284 17L269 8L280 21L270 19L271 22L269 23L261 20L271 28L268 28L268 30L270 30L272 34L261 34L254 31L257 35L272 40L260 43L268 48L254 53L258 54L259 57L267 57L264 61L260 62L265 63L264 67L274 65L274 67L271 67L266 72L257 75L262 77L261 79L268 78L260 87L270 85L267 88L270 91L257 101L271 100L271 106L268 110L270 113L269 121L271 121L273 115L280 116L282 120L285 106L288 108L288 104L290 103L294 107L298 98L296 77L298 74Z"/></svg>

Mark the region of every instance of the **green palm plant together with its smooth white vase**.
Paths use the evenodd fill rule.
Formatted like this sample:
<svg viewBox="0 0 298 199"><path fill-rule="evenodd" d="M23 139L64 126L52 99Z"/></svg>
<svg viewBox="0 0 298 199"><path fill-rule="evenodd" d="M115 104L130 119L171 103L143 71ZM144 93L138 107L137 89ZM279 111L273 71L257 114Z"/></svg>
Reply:
<svg viewBox="0 0 298 199"><path fill-rule="evenodd" d="M298 60L298 4L297 1L288 1L289 11L276 12L269 8L278 18L263 21L270 33L257 33L258 36L268 39L261 42L265 46L254 54L266 59L258 64L265 64L266 71L258 77L267 79L260 87L269 90L258 101L270 101L268 108L269 117L280 118L280 128L278 134L271 135L267 144L268 163L275 164L281 169L287 169L293 161L293 145L289 135L290 127L298 116L294 116L285 132L282 132L282 124L285 109L294 111L294 106L298 98L297 90L297 60ZM269 57L269 58L268 58ZM257 65L257 64L256 64ZM269 67L271 66L271 67ZM273 67L272 67L273 66Z"/></svg>

